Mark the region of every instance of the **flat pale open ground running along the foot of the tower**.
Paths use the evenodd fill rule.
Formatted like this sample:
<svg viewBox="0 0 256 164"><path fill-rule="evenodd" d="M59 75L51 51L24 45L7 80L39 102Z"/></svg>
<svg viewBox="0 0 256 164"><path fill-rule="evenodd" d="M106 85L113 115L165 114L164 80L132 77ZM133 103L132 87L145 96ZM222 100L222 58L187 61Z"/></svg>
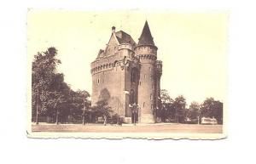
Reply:
<svg viewBox="0 0 256 164"><path fill-rule="evenodd" d="M222 125L140 124L103 126L102 124L40 124L32 125L32 132L89 132L89 133L222 133Z"/></svg>

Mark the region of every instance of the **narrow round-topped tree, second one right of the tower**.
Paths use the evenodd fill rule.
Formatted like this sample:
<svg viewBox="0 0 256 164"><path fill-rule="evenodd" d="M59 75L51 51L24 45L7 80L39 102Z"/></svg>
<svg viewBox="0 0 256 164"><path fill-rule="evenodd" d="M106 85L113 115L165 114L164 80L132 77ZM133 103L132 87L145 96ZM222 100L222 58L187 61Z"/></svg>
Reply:
<svg viewBox="0 0 256 164"><path fill-rule="evenodd" d="M183 95L178 96L174 102L173 106L175 109L175 122L183 123L185 118L185 108L186 108L186 99Z"/></svg>

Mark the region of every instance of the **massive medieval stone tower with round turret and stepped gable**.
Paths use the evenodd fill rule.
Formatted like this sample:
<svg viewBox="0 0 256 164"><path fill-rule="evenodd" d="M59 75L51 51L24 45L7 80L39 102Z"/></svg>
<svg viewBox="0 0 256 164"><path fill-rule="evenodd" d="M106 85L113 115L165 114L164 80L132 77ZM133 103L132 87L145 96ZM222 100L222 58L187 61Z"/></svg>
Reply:
<svg viewBox="0 0 256 164"><path fill-rule="evenodd" d="M115 31L107 47L91 63L91 103L108 101L114 113L126 122L153 123L160 109L160 76L162 62L157 60L157 47L145 22L143 32L134 42L124 31Z"/></svg>

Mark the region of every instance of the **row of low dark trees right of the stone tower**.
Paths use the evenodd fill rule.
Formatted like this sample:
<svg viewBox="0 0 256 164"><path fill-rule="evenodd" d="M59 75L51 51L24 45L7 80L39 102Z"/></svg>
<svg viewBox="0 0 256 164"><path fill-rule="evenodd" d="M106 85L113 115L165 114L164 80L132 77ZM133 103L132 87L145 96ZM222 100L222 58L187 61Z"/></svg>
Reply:
<svg viewBox="0 0 256 164"><path fill-rule="evenodd" d="M178 96L172 99L166 90L161 90L161 119L162 122L198 122L198 118L215 117L218 124L223 123L223 103L213 98L206 99L201 105L195 101L186 108L186 99ZM199 116L199 117L198 117ZM189 122L188 122L189 121Z"/></svg>

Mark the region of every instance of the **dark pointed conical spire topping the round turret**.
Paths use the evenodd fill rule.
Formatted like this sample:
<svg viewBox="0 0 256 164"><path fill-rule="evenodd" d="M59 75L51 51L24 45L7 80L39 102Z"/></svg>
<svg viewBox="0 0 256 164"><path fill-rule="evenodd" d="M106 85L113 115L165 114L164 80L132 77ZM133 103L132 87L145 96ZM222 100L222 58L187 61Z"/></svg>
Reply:
<svg viewBox="0 0 256 164"><path fill-rule="evenodd" d="M141 37L139 38L138 45L154 45L153 37L149 30L148 21L146 20L145 25L143 27L143 32Z"/></svg>

